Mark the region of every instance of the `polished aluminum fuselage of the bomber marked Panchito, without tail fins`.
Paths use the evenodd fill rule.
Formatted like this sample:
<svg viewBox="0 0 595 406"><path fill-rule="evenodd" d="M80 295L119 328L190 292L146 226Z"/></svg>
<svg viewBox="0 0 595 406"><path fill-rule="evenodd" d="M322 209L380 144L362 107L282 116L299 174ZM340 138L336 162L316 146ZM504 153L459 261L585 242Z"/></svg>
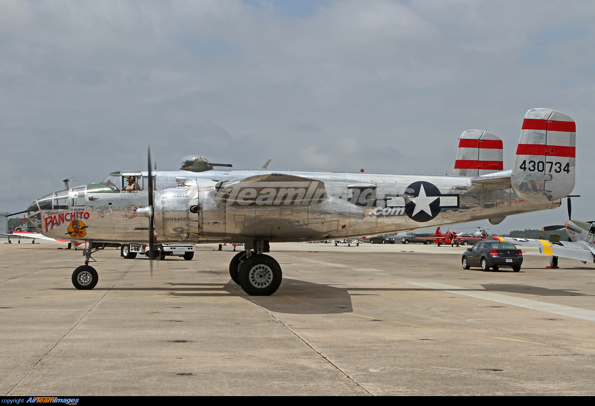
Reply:
<svg viewBox="0 0 595 406"><path fill-rule="evenodd" d="M120 172L117 172L118 174ZM121 172L125 176L125 172ZM70 188L35 200L29 216L43 235L79 241L143 243L149 238L149 219L137 209L148 206L148 174L143 190L121 191L102 183ZM504 172L503 172L504 173ZM162 243L242 243L315 241L386 234L518 213L553 209L560 200L529 202L506 185L481 185L472 177L392 175L342 172L281 171L306 180L324 182L325 196L316 202L277 206L233 204L214 199L220 182L240 180L270 171L154 171L155 235ZM122 177L119 177L122 179ZM435 186L427 202L440 204L431 219L417 221L406 204L421 207L422 194L412 185ZM353 200L353 192L367 199ZM409 193L409 195L408 195ZM45 199L45 200L44 200ZM51 203L48 203L51 202ZM427 203L427 204L430 204ZM43 207L42 207L43 206ZM198 207L192 210L192 207ZM429 206L425 206L429 207ZM426 209L429 213L429 209ZM142 211L142 210L141 210ZM421 213L422 215L424 213Z"/></svg>

